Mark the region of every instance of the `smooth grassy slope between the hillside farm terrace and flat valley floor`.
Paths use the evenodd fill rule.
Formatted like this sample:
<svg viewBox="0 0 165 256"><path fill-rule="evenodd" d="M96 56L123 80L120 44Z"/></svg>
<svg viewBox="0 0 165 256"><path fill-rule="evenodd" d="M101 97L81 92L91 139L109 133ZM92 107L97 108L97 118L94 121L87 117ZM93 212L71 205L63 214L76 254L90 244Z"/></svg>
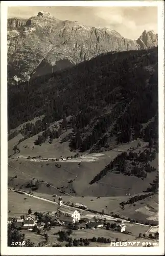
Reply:
<svg viewBox="0 0 165 256"><path fill-rule="evenodd" d="M108 153L106 153L108 154ZM60 167L55 166L54 161L32 162L26 158L8 159L8 183L10 186L25 185L32 178L46 181L54 187L59 187L71 196L127 196L141 193L146 190L155 179L156 172L148 173L144 180L123 174L108 173L98 183L89 185L95 177L109 162L118 154L100 157L99 161L93 162L60 162ZM116 155L114 155L116 154ZM112 158L111 158L112 157ZM17 179L11 181L11 177L17 175ZM70 180L72 183L68 183ZM63 186L63 187L62 187ZM75 190L75 193L73 193ZM53 187L46 187L44 183L38 188L39 193L58 194ZM127 194L127 195L126 195Z"/></svg>

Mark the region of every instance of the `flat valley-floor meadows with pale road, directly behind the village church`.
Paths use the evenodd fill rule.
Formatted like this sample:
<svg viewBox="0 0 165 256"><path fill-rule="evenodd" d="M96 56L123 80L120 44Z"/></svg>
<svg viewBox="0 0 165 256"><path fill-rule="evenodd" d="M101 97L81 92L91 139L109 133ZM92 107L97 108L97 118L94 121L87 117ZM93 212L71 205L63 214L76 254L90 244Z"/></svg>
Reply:
<svg viewBox="0 0 165 256"><path fill-rule="evenodd" d="M26 192L23 192L25 194L21 195L16 193L13 189L9 188L8 190L8 216L9 217L19 217L22 214L27 214L27 211L29 208L31 208L33 210L33 212L35 211L40 211L40 212L51 212L51 211L56 211L58 208L58 197L54 198L53 195L43 195L43 194L39 194L39 193L33 193L33 195L30 195ZM69 198L68 197L63 197L63 202L64 204L66 204L66 202L68 202ZM74 200L72 200L70 202L70 204L72 202L76 203L82 203L83 205L87 206L86 210L82 210L82 209L77 209L80 211L80 214L82 217L87 217L88 219L91 219L93 217L99 217L99 218L106 218L107 220L122 220L120 218L113 218L109 215L106 214L110 214L106 212L105 210L105 214L101 215L101 214L92 214L90 211L88 211L88 209L94 209L97 211L101 211L101 207L99 207L98 205L100 205L101 203L105 203L105 201L107 201L107 203L109 204L109 207L111 207L111 214L113 212L113 214L117 214L119 215L121 218L125 217L125 219L127 220L128 218L130 219L135 219L138 222L138 216L136 217L136 212L134 210L134 206L129 205L128 206L128 210L124 212L123 214L123 210L119 207L119 203L124 201L124 200L128 200L129 197L118 197L115 199L115 197L107 197L107 198L96 198L96 197L92 197L92 199L89 197L87 198L80 198L80 197L75 197ZM55 200L55 201L54 201ZM93 200L93 201L91 201ZM141 204L144 204L144 208L146 203L148 202L152 202L154 199L153 198L146 198L142 201L140 201ZM155 200L156 200L156 196L155 196ZM146 201L146 202L145 202ZM14 203L13 203L14 202ZM88 203L87 203L88 202ZM93 202L93 205L92 205ZM138 204L137 203L137 206ZM138 207L136 206L135 209L138 209ZM127 206L126 206L127 207ZM158 206L157 206L158 207ZM154 209L153 209L154 210ZM155 211L158 209L155 209L152 214L153 216L155 215ZM110 210L109 210L110 211ZM158 212L158 211L157 211ZM150 211L151 214L151 211ZM124 222L128 222L124 220ZM141 218L139 218L139 222L143 221L143 222L147 222L148 220L148 215L144 214L141 216ZM151 220L150 220L151 223ZM158 224L158 218L156 220L154 220L152 222L153 224L157 225ZM138 225L138 223L137 223ZM140 226L143 226L143 224L140 224ZM146 225L147 226L147 225Z"/></svg>

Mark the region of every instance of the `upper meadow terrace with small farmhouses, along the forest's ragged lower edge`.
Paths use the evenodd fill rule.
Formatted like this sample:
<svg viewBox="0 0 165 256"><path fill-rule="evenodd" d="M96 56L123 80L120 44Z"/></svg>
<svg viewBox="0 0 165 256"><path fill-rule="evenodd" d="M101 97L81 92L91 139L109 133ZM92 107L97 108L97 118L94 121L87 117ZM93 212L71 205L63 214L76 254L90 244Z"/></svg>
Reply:
<svg viewBox="0 0 165 256"><path fill-rule="evenodd" d="M65 138L70 133L72 133L72 129L68 129L67 132L65 130L63 130L63 133L60 135L60 137L57 139L53 139L51 144L48 141L45 141L41 145L35 145L34 142L37 140L38 135L42 134L42 132L40 132L39 134L22 141L18 145L20 153L16 153L14 155L14 157L15 158L19 157L19 156L36 157L36 156L40 155L42 158L60 158L61 156L66 157L66 156L75 155L75 152L70 151L68 141L60 143L61 140L63 138ZM8 142L8 151L12 152L14 145L17 144L17 142L19 141L18 137L20 137L19 139L23 138L23 136L19 134L16 136L16 139L13 138ZM110 161L111 161L118 154L121 154L122 152L129 150L130 147L136 148L138 143L139 143L139 139L134 140L130 143L116 145L116 148L114 148L114 150L111 150L111 151L106 151L103 153L93 153L93 154L83 153L83 155L80 156L80 158L74 159L74 161L88 162L88 161L92 161L92 158L93 158L93 161L95 161L97 159L100 160L100 158L107 158L107 157L110 158ZM140 143L142 143L142 142L140 141ZM140 147L137 148L138 151L139 151L139 149L140 149ZM14 151L12 152L12 154L14 154ZM69 161L69 160L67 160L67 161ZM73 160L71 160L71 161L73 161Z"/></svg>

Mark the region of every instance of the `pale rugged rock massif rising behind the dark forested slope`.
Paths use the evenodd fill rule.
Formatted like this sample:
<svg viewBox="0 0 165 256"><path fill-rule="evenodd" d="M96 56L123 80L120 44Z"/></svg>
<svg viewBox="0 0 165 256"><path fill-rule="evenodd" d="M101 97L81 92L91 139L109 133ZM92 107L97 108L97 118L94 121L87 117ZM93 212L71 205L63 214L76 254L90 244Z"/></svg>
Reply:
<svg viewBox="0 0 165 256"><path fill-rule="evenodd" d="M50 73L52 67L63 69L109 51L156 46L154 33L147 39L145 35L130 40L108 28L62 21L42 11L28 20L8 19L8 82L25 81Z"/></svg>

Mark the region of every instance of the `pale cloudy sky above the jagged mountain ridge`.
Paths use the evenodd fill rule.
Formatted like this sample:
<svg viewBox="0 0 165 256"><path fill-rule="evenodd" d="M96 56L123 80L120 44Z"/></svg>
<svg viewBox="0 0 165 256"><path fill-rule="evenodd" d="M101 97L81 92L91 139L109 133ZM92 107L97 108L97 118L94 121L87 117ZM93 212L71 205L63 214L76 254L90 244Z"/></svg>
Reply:
<svg viewBox="0 0 165 256"><path fill-rule="evenodd" d="M8 18L30 18L47 11L55 18L93 27L108 27L122 36L137 39L144 30L157 33L157 7L17 6L8 7Z"/></svg>

